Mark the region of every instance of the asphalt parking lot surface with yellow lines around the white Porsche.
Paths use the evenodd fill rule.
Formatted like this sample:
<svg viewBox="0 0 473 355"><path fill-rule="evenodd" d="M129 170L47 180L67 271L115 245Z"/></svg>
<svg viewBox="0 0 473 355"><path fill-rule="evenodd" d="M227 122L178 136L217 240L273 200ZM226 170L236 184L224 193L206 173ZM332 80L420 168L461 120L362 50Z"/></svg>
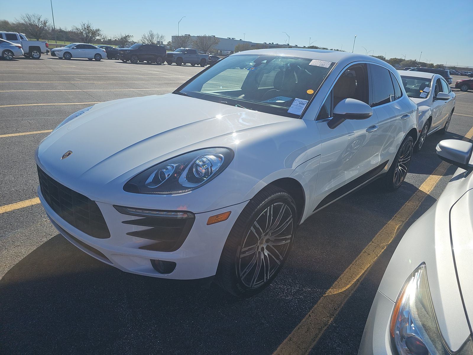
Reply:
<svg viewBox="0 0 473 355"><path fill-rule="evenodd" d="M450 132L428 137L398 191L375 182L309 218L277 279L236 300L217 286L105 265L65 240L35 200L35 148L65 117L97 102L171 92L201 69L46 55L0 62L0 354L357 354L397 243L455 171L437 169L436 144L471 138L473 92L452 89ZM435 183L424 183L432 174ZM414 194L419 208L399 214ZM379 257L364 256L396 216Z"/></svg>

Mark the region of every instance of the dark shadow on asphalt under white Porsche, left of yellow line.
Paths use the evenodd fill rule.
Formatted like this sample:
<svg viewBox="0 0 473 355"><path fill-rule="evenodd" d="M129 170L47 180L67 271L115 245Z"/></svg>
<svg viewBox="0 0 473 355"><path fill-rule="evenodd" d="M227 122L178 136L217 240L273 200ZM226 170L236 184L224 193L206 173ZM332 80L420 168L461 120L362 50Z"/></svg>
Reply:
<svg viewBox="0 0 473 355"><path fill-rule="evenodd" d="M0 280L0 353L271 354L416 190L374 183L316 213L275 282L246 300L124 273L58 234Z"/></svg>

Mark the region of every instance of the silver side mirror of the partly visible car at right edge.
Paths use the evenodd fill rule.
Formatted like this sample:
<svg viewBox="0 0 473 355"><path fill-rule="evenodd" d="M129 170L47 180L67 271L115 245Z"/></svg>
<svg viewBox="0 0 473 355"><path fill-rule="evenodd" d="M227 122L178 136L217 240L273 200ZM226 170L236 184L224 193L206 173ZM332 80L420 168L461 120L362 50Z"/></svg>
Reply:
<svg viewBox="0 0 473 355"><path fill-rule="evenodd" d="M472 143L457 139L446 139L440 141L435 149L441 160L465 170L473 168Z"/></svg>

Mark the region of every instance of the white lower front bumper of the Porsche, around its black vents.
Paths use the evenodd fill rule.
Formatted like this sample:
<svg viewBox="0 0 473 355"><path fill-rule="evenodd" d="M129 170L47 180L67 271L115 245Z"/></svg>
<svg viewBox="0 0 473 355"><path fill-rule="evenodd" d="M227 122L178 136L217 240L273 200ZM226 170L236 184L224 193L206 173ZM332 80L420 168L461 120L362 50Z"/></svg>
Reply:
<svg viewBox="0 0 473 355"><path fill-rule="evenodd" d="M172 252L162 252L140 249L140 247L149 246L155 241L130 236L126 233L145 230L147 227L122 223L133 217L119 213L112 204L96 202L110 231L110 238L98 239L79 231L64 221L46 203L39 187L38 196L56 229L61 232L64 238L85 253L132 274L178 280L201 279L216 274L228 234L247 203L211 212L196 213L192 229L182 246ZM227 211L231 211L228 220L207 225L210 216ZM170 274L160 274L151 265L151 260L172 261L176 263L176 266Z"/></svg>

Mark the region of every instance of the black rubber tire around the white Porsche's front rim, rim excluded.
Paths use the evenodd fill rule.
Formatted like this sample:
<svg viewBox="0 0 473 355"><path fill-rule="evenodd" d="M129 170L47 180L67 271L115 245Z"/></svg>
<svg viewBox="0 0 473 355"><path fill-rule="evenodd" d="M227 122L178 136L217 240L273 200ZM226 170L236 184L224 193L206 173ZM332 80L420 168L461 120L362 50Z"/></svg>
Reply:
<svg viewBox="0 0 473 355"><path fill-rule="evenodd" d="M245 237L250 231L250 228L252 227L255 219L261 213L263 213L263 211L268 208L268 206L277 202L284 202L291 209L294 218L292 240L289 243L288 250L286 251L284 258L281 261L279 269L270 277L270 279L257 288L248 288L247 286L245 286L245 284L243 284L239 275L237 275L237 267L239 261L238 256L240 249L242 248L242 244L245 240ZM217 283L224 290L237 297L251 297L263 291L269 284L272 283L274 278L276 278L276 276L279 274L280 270L284 266L287 258L289 257L289 253L294 243L297 220L298 219L296 204L292 197L289 195L289 193L287 193L281 188L274 186L266 187L265 189L260 191L245 206L243 211L236 219L236 222L228 235L217 270Z"/></svg>

